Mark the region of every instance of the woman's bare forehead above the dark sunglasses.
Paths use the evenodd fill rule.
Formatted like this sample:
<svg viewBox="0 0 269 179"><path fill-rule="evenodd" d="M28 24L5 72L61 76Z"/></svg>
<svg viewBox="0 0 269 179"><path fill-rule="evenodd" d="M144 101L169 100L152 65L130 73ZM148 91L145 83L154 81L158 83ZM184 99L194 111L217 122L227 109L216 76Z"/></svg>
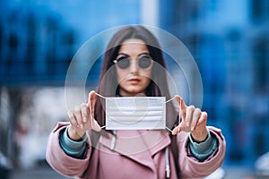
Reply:
<svg viewBox="0 0 269 179"><path fill-rule="evenodd" d="M146 44L143 42L142 39L137 38L130 38L126 39L121 47L119 48L118 53L132 53L132 54L139 54L142 52L149 52Z"/></svg>

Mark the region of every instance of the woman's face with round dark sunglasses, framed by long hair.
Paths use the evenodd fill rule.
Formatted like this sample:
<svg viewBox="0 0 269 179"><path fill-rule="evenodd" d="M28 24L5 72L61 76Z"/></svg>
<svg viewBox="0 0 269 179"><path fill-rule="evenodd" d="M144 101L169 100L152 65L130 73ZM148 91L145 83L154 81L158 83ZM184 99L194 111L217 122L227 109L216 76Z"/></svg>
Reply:
<svg viewBox="0 0 269 179"><path fill-rule="evenodd" d="M153 62L143 40L126 39L119 48L115 63L119 94L134 97L144 93L151 82Z"/></svg>

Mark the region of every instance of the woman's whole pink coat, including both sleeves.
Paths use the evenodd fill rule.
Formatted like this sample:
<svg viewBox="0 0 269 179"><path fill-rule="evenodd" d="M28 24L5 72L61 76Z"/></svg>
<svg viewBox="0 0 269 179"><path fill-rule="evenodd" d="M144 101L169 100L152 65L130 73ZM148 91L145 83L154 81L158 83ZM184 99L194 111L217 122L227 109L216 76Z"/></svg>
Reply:
<svg viewBox="0 0 269 179"><path fill-rule="evenodd" d="M59 123L48 139L47 160L58 173L80 178L165 178L165 149L170 145L167 132L117 131L115 148L110 149L111 136L100 137L91 156L91 141L84 159L67 156L59 145L59 132L69 123ZM190 153L188 137L178 134L178 166L180 178L199 178L210 175L221 166L226 144L220 129L209 127L219 146L204 162ZM91 158L91 159L90 159ZM176 167L169 149L170 178L177 178Z"/></svg>

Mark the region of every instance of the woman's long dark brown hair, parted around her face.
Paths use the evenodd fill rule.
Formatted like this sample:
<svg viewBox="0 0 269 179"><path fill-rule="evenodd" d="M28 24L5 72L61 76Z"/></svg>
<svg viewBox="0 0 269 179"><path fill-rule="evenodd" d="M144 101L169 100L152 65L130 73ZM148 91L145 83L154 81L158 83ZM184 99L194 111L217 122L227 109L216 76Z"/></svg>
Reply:
<svg viewBox="0 0 269 179"><path fill-rule="evenodd" d="M115 97L118 94L119 86L113 60L116 59L121 44L129 38L138 38L143 40L154 61L152 67L152 77L149 86L145 90L148 97L166 97L170 98L169 87L166 78L166 65L161 51L161 46L152 33L143 26L126 26L111 38L106 49L102 69L100 73L99 89L97 92L104 97ZM103 126L105 125L105 110L102 98L96 98L95 119ZM167 126L173 127L177 124L177 113L172 103L167 104Z"/></svg>

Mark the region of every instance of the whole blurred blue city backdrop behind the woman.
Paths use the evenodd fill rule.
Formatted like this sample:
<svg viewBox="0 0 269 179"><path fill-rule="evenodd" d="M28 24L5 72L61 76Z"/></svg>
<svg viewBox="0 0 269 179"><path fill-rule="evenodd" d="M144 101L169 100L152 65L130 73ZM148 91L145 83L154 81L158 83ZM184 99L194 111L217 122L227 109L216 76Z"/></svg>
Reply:
<svg viewBox="0 0 269 179"><path fill-rule="evenodd" d="M68 65L89 38L130 23L169 31L194 56L208 124L226 137L225 178L269 171L269 1L2 0L0 9L0 178L65 178L45 150L67 120Z"/></svg>

